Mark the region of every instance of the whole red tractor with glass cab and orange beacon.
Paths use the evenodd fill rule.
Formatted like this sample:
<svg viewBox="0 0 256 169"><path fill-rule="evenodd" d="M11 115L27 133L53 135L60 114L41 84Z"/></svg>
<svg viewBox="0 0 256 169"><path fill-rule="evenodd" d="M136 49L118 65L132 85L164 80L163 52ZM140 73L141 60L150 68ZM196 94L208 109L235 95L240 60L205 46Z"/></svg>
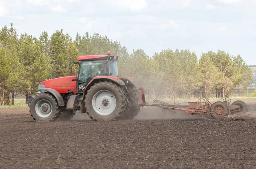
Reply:
<svg viewBox="0 0 256 169"><path fill-rule="evenodd" d="M117 59L107 55L79 56L76 76L49 79L38 85L27 104L35 121L71 119L75 112L87 113L93 120L132 119L145 105L145 93L135 82L119 76Z"/></svg>

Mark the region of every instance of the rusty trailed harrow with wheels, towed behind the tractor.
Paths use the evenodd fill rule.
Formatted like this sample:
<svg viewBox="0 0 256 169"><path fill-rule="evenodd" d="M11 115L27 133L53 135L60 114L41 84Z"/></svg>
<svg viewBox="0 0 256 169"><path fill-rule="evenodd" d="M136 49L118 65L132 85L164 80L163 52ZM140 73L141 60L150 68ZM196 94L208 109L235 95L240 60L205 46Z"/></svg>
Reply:
<svg viewBox="0 0 256 169"><path fill-rule="evenodd" d="M144 102L145 103L145 102ZM181 104L181 103L180 103ZM211 103L208 98L199 99L195 102L188 102L189 105L169 104L164 101L154 100L152 104L143 104L146 107L159 107L169 111L184 111L186 114L206 115L208 118L256 118L253 113L248 113L247 104L237 100L231 104L230 98L221 99Z"/></svg>

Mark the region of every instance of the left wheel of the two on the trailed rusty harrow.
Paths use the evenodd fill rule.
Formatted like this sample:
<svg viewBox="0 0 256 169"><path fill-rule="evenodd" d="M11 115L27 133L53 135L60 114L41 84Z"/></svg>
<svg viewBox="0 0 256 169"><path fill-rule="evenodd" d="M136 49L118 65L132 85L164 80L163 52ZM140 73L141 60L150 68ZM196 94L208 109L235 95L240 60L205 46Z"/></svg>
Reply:
<svg viewBox="0 0 256 169"><path fill-rule="evenodd" d="M219 116L230 114L230 110L229 110L227 104L225 104L222 101L217 101L217 102L213 103L210 108L210 112L212 113L212 115L211 115L212 118L223 118L223 117L219 117Z"/></svg>

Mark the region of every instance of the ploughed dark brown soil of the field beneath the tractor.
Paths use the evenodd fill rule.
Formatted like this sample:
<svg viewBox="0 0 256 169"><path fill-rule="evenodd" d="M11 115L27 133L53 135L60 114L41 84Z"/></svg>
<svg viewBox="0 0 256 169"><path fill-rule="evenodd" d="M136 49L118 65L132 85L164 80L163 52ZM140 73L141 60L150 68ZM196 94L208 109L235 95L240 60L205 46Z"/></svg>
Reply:
<svg viewBox="0 0 256 169"><path fill-rule="evenodd" d="M139 113L140 119L152 118L146 110ZM180 116L97 122L85 116L35 123L28 108L1 108L0 169L256 166L255 120Z"/></svg>

